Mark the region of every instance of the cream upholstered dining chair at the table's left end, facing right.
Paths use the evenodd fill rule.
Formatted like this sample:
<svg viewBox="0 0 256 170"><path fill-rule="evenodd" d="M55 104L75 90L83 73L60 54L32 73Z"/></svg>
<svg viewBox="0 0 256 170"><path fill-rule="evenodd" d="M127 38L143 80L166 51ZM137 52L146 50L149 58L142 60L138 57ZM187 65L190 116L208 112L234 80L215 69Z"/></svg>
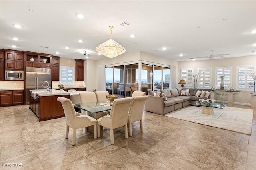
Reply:
<svg viewBox="0 0 256 170"><path fill-rule="evenodd" d="M94 125L94 139L97 138L97 120L88 115L81 115L76 112L70 99L65 97L58 97L57 100L62 104L65 117L66 117L66 136L68 138L69 127L73 129L73 141L72 145L76 144L76 129L86 128Z"/></svg>

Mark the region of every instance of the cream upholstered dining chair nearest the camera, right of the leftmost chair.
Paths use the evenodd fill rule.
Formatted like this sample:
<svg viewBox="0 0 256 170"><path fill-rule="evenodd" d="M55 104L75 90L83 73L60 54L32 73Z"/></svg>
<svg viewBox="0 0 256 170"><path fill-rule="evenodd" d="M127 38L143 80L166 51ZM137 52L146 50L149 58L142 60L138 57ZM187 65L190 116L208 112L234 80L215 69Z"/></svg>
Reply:
<svg viewBox="0 0 256 170"><path fill-rule="evenodd" d="M114 129L124 126L125 138L128 138L127 120L132 97L116 99L112 103L110 115L97 119L98 138L100 126L110 129L110 143L114 144Z"/></svg>

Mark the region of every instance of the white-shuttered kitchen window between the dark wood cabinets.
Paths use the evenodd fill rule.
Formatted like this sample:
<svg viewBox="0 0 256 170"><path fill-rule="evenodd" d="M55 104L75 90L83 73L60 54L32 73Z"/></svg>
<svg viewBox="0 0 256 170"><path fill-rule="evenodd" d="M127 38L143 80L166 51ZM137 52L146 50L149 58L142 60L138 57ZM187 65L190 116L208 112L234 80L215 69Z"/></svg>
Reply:
<svg viewBox="0 0 256 170"><path fill-rule="evenodd" d="M74 85L74 67L60 66L60 83Z"/></svg>

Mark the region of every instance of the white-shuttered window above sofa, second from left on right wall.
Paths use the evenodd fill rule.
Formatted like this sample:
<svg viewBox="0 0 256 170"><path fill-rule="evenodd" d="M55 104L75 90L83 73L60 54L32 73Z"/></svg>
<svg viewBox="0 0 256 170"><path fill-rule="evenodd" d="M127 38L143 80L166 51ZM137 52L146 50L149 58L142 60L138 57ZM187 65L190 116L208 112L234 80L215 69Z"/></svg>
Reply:
<svg viewBox="0 0 256 170"><path fill-rule="evenodd" d="M212 68L199 68L198 69L198 87L210 88L212 87L211 81Z"/></svg>

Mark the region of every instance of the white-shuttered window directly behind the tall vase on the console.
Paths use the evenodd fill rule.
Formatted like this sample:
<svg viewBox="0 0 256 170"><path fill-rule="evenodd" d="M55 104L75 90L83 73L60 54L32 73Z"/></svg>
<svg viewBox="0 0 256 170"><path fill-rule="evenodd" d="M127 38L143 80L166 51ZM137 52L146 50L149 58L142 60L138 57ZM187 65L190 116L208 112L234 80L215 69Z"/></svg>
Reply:
<svg viewBox="0 0 256 170"><path fill-rule="evenodd" d="M216 87L220 89L220 76L224 76L224 89L230 89L231 84L232 67L216 67Z"/></svg>

